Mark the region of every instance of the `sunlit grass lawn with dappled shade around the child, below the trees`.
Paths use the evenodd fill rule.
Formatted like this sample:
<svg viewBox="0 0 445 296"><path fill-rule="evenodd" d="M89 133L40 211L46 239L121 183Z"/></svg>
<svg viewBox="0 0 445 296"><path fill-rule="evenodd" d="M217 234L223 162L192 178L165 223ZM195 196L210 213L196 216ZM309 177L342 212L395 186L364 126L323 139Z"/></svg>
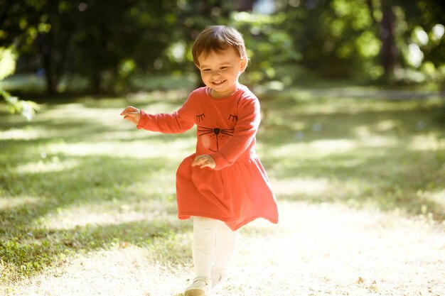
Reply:
<svg viewBox="0 0 445 296"><path fill-rule="evenodd" d="M182 295L192 224L176 218L174 178L194 133L138 131L119 113L174 111L187 94L64 99L31 122L0 105L1 295ZM444 92L259 97L280 222L242 229L214 295L443 295Z"/></svg>

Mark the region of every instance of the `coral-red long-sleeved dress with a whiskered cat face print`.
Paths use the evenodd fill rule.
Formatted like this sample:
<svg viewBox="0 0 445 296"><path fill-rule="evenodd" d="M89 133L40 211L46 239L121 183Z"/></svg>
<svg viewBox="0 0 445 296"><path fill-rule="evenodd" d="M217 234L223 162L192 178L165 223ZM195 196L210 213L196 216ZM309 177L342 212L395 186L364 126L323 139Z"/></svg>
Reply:
<svg viewBox="0 0 445 296"><path fill-rule="evenodd" d="M255 153L259 102L241 86L215 99L208 87L195 89L173 114L141 111L137 128L182 133L196 128L196 153L176 172L178 218L204 216L224 221L232 230L257 218L278 223L277 202L269 178ZM215 169L192 167L195 155L208 154Z"/></svg>

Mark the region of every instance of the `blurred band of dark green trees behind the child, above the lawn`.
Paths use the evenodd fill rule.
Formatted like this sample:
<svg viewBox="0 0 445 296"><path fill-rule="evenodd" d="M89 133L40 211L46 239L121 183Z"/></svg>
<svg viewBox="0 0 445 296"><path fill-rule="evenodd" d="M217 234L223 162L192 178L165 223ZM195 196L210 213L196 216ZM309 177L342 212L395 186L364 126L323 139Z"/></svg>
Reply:
<svg viewBox="0 0 445 296"><path fill-rule="evenodd" d="M214 24L245 36L259 89L445 84L442 0L0 0L1 94L194 87L191 46Z"/></svg>

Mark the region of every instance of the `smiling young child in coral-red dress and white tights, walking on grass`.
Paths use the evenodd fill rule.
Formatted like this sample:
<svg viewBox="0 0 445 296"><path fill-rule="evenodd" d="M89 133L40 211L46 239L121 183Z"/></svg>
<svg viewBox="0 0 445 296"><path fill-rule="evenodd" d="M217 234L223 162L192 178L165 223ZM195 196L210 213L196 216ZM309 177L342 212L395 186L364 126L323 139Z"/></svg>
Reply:
<svg viewBox="0 0 445 296"><path fill-rule="evenodd" d="M195 279L186 296L208 295L227 278L238 229L257 218L278 223L277 203L255 153L259 102L238 77L247 67L242 35L210 26L192 49L205 87L173 114L146 114L128 106L121 115L137 128L182 133L197 126L196 153L176 172L178 218L193 216Z"/></svg>

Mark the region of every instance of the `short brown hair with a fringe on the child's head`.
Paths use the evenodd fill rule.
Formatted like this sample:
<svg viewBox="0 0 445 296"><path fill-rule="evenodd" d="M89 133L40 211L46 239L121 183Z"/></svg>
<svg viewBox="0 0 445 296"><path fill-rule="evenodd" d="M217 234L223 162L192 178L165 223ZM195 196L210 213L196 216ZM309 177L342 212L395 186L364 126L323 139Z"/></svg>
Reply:
<svg viewBox="0 0 445 296"><path fill-rule="evenodd" d="M244 38L235 28L229 26L210 26L204 29L195 39L192 48L193 61L199 66L198 57L210 51L220 51L233 48L243 59L247 59Z"/></svg>

